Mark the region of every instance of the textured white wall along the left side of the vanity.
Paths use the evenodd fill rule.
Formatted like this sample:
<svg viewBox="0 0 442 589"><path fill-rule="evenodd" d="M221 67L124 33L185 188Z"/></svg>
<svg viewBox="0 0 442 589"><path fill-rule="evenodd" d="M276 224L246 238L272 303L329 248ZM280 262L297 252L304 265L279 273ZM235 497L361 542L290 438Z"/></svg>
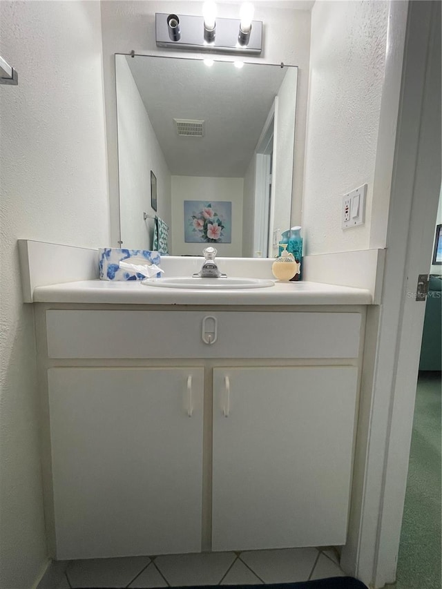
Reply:
<svg viewBox="0 0 442 589"><path fill-rule="evenodd" d="M17 238L109 242L97 2L0 2L0 587L28 589L46 559L33 309Z"/></svg>

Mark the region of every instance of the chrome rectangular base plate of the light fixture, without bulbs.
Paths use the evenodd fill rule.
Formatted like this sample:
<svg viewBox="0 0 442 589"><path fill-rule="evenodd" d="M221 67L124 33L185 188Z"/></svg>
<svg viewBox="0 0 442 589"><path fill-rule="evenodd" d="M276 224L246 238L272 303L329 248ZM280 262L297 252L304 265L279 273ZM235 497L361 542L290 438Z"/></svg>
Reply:
<svg viewBox="0 0 442 589"><path fill-rule="evenodd" d="M215 39L208 42L204 38L203 17L173 15L180 26L180 38L173 41L168 20L170 16L164 12L157 12L155 15L157 47L242 55L259 55L262 50L262 21L252 21L248 42L242 45L238 41L240 19L217 18Z"/></svg>

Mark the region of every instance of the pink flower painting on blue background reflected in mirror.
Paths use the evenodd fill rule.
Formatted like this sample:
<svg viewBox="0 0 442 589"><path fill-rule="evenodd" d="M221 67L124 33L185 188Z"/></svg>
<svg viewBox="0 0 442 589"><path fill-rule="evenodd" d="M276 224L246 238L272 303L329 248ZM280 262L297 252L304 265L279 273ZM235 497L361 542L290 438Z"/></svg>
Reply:
<svg viewBox="0 0 442 589"><path fill-rule="evenodd" d="M184 242L231 243L231 201L184 200Z"/></svg>

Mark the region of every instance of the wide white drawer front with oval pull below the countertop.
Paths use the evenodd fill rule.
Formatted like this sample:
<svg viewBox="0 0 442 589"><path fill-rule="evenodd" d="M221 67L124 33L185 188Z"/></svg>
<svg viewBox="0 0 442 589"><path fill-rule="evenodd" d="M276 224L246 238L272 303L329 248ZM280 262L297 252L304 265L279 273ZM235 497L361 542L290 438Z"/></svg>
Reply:
<svg viewBox="0 0 442 589"><path fill-rule="evenodd" d="M50 358L356 358L361 314L54 309L46 327Z"/></svg>

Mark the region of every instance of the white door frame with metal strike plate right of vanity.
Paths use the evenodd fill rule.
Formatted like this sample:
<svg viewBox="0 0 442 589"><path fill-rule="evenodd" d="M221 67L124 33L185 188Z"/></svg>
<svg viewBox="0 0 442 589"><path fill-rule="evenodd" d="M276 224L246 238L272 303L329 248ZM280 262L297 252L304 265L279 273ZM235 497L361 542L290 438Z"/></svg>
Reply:
<svg viewBox="0 0 442 589"><path fill-rule="evenodd" d="M369 311L376 327L361 509L341 563L374 588L396 579L425 313L417 277L430 269L428 220L441 189L440 10L430 0L408 4L383 302Z"/></svg>

